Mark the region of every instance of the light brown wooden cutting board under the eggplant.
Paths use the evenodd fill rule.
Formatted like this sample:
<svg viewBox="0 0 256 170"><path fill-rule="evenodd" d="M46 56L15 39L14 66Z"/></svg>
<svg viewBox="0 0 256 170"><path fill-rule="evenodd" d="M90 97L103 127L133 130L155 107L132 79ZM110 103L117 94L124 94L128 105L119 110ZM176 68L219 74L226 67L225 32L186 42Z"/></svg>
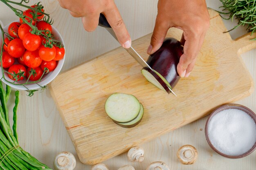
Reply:
<svg viewBox="0 0 256 170"><path fill-rule="evenodd" d="M209 13L211 26L193 72L174 88L177 97L150 84L141 75L141 66L121 47L54 79L52 97L81 162L92 165L119 155L252 93L253 80L239 54L255 48L256 42L249 41L249 35L231 40L223 33L227 29L218 13ZM170 29L167 37L181 35ZM144 60L150 37L132 42ZM135 95L143 104L144 117L134 128L122 128L106 115L104 103L116 92Z"/></svg>

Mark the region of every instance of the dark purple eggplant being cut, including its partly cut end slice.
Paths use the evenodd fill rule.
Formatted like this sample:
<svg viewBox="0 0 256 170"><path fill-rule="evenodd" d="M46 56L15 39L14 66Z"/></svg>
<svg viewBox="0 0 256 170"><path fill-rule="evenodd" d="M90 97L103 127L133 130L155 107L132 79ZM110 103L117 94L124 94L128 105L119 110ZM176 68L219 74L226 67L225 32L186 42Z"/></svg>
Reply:
<svg viewBox="0 0 256 170"><path fill-rule="evenodd" d="M150 83L171 93L168 86L173 89L180 80L177 65L183 53L183 45L180 41L166 38L160 49L148 57L147 63L153 71L144 67L141 73Z"/></svg>

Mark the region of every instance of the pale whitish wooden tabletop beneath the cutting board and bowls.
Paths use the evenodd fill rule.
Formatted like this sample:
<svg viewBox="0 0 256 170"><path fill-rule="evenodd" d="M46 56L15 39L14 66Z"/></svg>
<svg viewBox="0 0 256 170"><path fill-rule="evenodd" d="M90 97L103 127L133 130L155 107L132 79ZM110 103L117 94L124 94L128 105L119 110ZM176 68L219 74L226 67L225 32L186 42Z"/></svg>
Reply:
<svg viewBox="0 0 256 170"><path fill-rule="evenodd" d="M30 3L34 4L35 2L38 1L31 0ZM132 40L153 31L157 14L157 0L116 0L116 4ZM81 19L73 18L67 10L59 6L57 0L45 0L43 5L45 11L54 18L53 25L62 34L65 41L66 60L62 71L119 46L103 28L97 28L92 33L85 32ZM207 5L218 9L221 3L219 0L207 0ZM16 15L0 2L0 20L3 24L6 25L17 19ZM225 21L225 25L231 29L236 22ZM245 33L245 28L238 28L231 32L231 37L237 38ZM256 50L252 50L242 55L245 65L254 79L256 79L255 54ZM254 92L237 103L256 112L256 93ZM110 170L117 170L126 164L134 166L136 170L145 170L153 161L164 161L171 170L256 170L256 151L242 159L227 159L214 152L204 136L206 120L207 117L204 117L141 145L145 149L145 160L142 163L128 161L126 153L103 163ZM66 150L76 156L78 162L76 170L90 170L90 166L79 162L72 141L48 90L36 93L33 97L27 97L25 92L20 92L18 135L20 146L51 168L53 168L54 157L58 152ZM177 160L176 152L180 146L185 144L191 144L198 149L198 160L193 165L182 165Z"/></svg>

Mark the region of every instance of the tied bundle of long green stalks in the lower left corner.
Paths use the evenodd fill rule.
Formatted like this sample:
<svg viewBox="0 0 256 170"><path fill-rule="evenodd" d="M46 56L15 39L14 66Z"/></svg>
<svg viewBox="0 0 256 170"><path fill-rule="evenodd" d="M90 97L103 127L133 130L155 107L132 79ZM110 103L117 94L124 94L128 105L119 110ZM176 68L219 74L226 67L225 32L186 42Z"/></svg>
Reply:
<svg viewBox="0 0 256 170"><path fill-rule="evenodd" d="M16 125L19 91L15 92L13 131L9 126L8 113L4 112L5 107L7 107L10 93L10 87L6 86L5 91L2 82L0 82L0 170L51 170L18 145Z"/></svg>

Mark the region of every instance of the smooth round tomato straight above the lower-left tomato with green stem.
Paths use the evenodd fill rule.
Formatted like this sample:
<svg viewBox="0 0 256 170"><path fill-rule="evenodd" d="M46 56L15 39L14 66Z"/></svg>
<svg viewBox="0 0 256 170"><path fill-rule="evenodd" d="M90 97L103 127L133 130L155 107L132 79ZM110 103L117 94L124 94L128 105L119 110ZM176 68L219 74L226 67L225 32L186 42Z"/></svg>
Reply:
<svg viewBox="0 0 256 170"><path fill-rule="evenodd" d="M7 46L8 53L15 58L21 57L25 52L25 47L22 44L22 40L20 38L15 38L9 42Z"/></svg>

